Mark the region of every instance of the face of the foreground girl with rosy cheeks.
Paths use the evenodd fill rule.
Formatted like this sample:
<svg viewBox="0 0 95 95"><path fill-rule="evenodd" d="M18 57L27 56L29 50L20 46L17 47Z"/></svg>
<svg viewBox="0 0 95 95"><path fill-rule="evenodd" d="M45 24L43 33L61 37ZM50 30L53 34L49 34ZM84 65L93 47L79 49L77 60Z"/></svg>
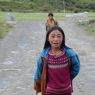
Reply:
<svg viewBox="0 0 95 95"><path fill-rule="evenodd" d="M51 45L51 48L59 49L63 41L62 33L59 30L53 30L49 34L48 41Z"/></svg>

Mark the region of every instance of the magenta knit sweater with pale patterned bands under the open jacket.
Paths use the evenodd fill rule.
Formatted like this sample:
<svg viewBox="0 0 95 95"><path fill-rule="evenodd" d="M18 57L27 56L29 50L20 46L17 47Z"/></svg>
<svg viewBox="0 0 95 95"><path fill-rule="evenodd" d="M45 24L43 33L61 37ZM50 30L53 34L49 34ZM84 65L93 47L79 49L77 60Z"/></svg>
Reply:
<svg viewBox="0 0 95 95"><path fill-rule="evenodd" d="M72 92L69 59L63 52L60 56L48 54L48 80L46 94L67 94Z"/></svg>

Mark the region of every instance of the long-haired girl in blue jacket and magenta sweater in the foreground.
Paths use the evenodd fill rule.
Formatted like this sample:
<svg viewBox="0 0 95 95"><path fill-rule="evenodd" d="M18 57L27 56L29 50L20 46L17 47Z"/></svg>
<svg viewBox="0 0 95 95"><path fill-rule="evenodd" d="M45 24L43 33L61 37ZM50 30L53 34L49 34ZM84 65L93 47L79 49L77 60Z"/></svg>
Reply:
<svg viewBox="0 0 95 95"><path fill-rule="evenodd" d="M44 58L45 60L43 60ZM45 67L45 68L44 68ZM34 88L42 95L71 95L72 80L80 70L78 55L65 45L65 34L60 27L52 27L37 60ZM45 82L44 82L45 81ZM44 90L38 86L44 85Z"/></svg>

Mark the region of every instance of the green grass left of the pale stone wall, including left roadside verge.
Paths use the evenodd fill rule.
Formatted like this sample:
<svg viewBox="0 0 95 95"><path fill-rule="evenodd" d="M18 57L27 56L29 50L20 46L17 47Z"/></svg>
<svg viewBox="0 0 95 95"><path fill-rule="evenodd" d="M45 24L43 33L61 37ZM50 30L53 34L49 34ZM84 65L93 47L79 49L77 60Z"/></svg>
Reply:
<svg viewBox="0 0 95 95"><path fill-rule="evenodd" d="M11 25L6 24L8 16L11 15L15 18L16 21L46 21L48 13L17 13L17 12L0 12L0 38L3 38L7 33L6 31L10 31L12 28ZM63 20L63 13L54 13L54 17L56 20Z"/></svg>

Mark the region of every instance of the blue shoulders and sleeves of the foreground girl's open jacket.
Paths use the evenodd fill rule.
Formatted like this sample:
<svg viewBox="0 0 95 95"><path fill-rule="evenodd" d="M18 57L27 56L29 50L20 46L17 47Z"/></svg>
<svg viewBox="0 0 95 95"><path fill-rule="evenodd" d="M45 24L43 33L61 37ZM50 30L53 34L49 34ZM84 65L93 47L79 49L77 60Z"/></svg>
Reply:
<svg viewBox="0 0 95 95"><path fill-rule="evenodd" d="M34 81L38 81L38 80L41 79L41 74L42 74L41 57L45 57L47 59L49 49L50 48L43 49L42 52L39 54L39 56L37 58L37 69L35 71ZM67 57L71 58L71 61L70 61L70 65L71 65L70 73L71 73L71 78L74 79L77 76L77 74L79 73L79 70L80 70L79 57L71 48L63 47L63 49L65 50ZM47 66L48 66L48 62L47 62Z"/></svg>

